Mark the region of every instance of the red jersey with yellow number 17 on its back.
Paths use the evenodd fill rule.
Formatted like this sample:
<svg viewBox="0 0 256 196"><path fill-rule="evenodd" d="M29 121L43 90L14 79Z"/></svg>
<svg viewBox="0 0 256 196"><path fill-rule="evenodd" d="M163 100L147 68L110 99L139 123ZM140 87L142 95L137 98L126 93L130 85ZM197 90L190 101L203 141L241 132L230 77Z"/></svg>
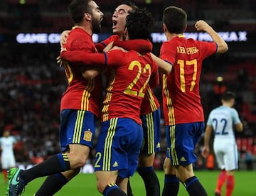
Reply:
<svg viewBox="0 0 256 196"><path fill-rule="evenodd" d="M160 58L173 65L171 73L163 75L166 125L204 121L199 94L202 62L216 51L216 43L186 39L184 36L163 43Z"/></svg>

